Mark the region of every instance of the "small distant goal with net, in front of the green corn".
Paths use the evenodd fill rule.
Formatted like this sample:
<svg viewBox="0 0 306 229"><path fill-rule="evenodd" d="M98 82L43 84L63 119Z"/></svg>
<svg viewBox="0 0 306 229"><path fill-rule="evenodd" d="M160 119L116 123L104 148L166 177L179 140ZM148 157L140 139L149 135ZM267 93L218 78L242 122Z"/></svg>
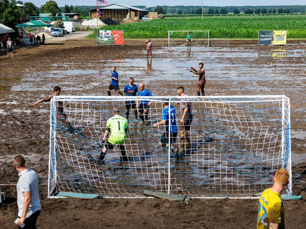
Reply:
<svg viewBox="0 0 306 229"><path fill-rule="evenodd" d="M168 46L187 46L187 35L191 46L209 46L209 31L168 31Z"/></svg>

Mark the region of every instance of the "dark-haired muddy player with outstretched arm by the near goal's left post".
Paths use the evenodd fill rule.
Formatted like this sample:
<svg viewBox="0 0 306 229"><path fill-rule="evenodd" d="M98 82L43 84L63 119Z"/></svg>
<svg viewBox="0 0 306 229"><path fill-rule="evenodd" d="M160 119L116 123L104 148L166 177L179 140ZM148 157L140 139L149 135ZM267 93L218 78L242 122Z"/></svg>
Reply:
<svg viewBox="0 0 306 229"><path fill-rule="evenodd" d="M41 100L39 100L38 102L33 104L33 107L36 107L37 104L40 104L42 102L49 102L54 96L59 96L59 94L61 93L61 88L59 86L55 86L53 89L53 94L49 95ZM67 115L64 113L64 106L63 106L63 101L57 101L57 114L56 114L56 118L58 120L60 120L62 123L64 123L65 125L68 126L68 129L73 133L74 129L73 127L69 124L68 119L67 119Z"/></svg>

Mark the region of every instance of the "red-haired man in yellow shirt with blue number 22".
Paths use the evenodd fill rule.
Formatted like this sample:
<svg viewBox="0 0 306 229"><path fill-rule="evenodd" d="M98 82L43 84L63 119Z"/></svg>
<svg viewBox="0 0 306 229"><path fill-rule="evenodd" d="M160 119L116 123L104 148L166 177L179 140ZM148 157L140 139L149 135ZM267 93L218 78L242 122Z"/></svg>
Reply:
<svg viewBox="0 0 306 229"><path fill-rule="evenodd" d="M257 229L284 229L284 205L281 193L289 184L289 173L278 169L273 177L273 186L261 194L258 203Z"/></svg>

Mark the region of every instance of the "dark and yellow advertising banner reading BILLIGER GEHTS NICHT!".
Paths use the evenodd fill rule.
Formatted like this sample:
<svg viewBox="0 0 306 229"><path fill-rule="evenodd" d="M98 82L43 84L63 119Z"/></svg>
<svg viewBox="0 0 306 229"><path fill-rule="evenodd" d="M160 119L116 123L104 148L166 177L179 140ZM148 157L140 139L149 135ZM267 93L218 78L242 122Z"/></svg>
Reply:
<svg viewBox="0 0 306 229"><path fill-rule="evenodd" d="M258 37L259 45L286 45L286 30L260 30Z"/></svg>

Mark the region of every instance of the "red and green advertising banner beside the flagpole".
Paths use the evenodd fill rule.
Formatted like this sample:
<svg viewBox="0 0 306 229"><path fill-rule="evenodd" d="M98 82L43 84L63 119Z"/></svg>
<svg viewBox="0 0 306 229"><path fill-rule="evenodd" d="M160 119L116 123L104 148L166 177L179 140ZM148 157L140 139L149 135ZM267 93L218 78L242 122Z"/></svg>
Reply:
<svg viewBox="0 0 306 229"><path fill-rule="evenodd" d="M98 30L98 45L124 45L124 31Z"/></svg>

